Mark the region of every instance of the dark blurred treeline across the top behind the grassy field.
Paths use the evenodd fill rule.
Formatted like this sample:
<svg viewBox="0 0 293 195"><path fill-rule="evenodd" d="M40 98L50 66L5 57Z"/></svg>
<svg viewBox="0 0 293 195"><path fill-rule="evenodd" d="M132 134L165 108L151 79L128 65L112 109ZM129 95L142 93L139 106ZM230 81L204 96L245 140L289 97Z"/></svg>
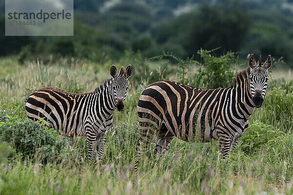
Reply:
<svg viewBox="0 0 293 195"><path fill-rule="evenodd" d="M74 0L74 8L73 37L5 37L1 15L0 55L104 63L129 50L186 58L221 47L217 55L271 54L293 66L293 0Z"/></svg>

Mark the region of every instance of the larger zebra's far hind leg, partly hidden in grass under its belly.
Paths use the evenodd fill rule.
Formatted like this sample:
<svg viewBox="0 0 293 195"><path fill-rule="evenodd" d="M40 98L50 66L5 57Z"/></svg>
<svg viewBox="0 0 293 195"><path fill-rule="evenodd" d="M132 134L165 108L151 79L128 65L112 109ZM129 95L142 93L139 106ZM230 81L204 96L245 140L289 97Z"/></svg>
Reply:
<svg viewBox="0 0 293 195"><path fill-rule="evenodd" d="M173 137L174 135L168 131L166 125L162 124L161 129L157 132L157 144L154 150L157 155L156 159L167 152Z"/></svg>

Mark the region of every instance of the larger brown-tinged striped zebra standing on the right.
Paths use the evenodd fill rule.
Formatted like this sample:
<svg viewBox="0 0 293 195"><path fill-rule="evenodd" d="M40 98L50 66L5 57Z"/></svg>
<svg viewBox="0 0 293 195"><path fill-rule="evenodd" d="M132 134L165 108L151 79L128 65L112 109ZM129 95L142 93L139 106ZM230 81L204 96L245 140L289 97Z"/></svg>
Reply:
<svg viewBox="0 0 293 195"><path fill-rule="evenodd" d="M135 169L156 134L154 153L165 153L173 137L184 141L219 140L224 159L249 126L248 118L265 98L268 69L272 57L249 58L249 67L239 72L230 87L200 89L175 81L149 85L138 101L140 139L136 148Z"/></svg>

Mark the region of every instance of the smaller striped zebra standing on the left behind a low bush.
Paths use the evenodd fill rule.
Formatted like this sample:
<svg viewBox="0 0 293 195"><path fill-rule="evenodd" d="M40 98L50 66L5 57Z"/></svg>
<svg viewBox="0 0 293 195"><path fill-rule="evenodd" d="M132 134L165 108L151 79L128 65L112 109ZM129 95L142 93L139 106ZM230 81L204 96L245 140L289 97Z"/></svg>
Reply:
<svg viewBox="0 0 293 195"><path fill-rule="evenodd" d="M110 75L112 78L104 84L84 94L72 94L55 87L41 88L25 100L26 115L35 121L45 118L55 130L61 130L63 136L86 136L89 159L102 159L113 112L116 108L124 109L132 66L129 64L126 70L122 66L117 73L112 65Z"/></svg>

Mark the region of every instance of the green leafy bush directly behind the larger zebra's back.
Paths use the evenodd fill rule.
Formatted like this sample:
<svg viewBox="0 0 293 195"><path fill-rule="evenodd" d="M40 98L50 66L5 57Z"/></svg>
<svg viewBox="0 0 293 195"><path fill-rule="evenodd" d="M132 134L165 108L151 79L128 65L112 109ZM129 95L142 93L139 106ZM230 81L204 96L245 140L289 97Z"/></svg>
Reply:
<svg viewBox="0 0 293 195"><path fill-rule="evenodd" d="M235 58L234 53L227 52L227 54L220 57L211 56L210 54L217 50L198 50L201 61L198 62L192 58L180 59L170 53L163 53L161 56L152 57L151 59L171 58L179 66L179 82L189 84L200 88L219 88L228 87L233 81L235 68L232 64L237 64L238 57ZM200 68L195 73L190 72L200 65Z"/></svg>

